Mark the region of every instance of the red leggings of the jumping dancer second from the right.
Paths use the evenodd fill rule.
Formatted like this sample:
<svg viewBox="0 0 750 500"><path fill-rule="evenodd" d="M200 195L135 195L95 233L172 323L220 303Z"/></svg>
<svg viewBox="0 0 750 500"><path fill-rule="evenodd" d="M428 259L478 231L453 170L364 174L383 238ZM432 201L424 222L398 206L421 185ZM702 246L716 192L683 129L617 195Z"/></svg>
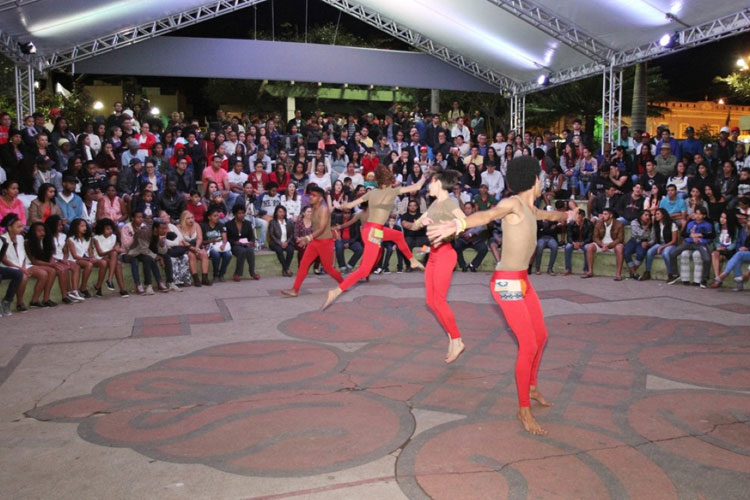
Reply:
<svg viewBox="0 0 750 500"><path fill-rule="evenodd" d="M424 272L425 301L437 316L440 325L452 339L461 338L456 317L448 305L448 288L451 286L453 270L456 268L456 251L450 243L430 249L430 260Z"/></svg>

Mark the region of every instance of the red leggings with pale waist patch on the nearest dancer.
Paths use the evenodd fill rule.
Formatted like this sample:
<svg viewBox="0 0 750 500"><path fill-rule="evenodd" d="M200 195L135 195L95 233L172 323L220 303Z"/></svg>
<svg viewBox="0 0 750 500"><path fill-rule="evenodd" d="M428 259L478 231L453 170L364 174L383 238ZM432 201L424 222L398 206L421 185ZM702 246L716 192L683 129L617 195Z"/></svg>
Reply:
<svg viewBox="0 0 750 500"><path fill-rule="evenodd" d="M432 257L430 257L432 259ZM539 362L547 342L547 327L539 297L524 271L495 271L490 282L492 297L503 310L505 321L518 340L516 389L518 404L531 405L529 386L536 385Z"/></svg>

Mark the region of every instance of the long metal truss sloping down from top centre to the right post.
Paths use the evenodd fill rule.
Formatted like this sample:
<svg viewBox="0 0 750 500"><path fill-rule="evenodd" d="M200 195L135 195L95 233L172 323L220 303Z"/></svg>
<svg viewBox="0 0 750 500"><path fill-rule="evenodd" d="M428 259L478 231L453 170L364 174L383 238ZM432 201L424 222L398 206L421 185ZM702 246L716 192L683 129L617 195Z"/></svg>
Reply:
<svg viewBox="0 0 750 500"><path fill-rule="evenodd" d="M437 57L451 66L454 66L475 78L483 80L498 89L510 90L515 89L518 86L518 82L515 80L512 80L494 70L485 68L476 61L473 61L462 54L457 54L447 47L435 43L424 35L401 26L392 19L380 15L374 10L370 10L349 0L322 1L359 19L360 21L364 21L370 26L374 26L379 30L388 33L394 38L398 38L399 40L408 43L412 47Z"/></svg>

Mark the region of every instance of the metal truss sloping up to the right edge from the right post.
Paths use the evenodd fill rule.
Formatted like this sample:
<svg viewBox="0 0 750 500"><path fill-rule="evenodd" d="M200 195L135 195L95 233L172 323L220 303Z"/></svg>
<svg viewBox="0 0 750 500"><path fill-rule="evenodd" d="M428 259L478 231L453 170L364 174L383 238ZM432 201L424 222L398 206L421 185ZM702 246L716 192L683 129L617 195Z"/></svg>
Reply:
<svg viewBox="0 0 750 500"><path fill-rule="evenodd" d="M576 66L574 68L555 71L550 74L549 82L551 86L561 85L563 83L580 80L601 73L608 66L621 68L632 66L639 62L656 59L680 50L711 43L745 31L750 31L750 9L744 9L735 14L730 14L698 26L677 31L677 39L679 40L679 45L677 47L671 49L665 48L659 45L658 41L654 40L632 49L615 52L612 54L608 64L593 62ZM519 92L530 93L538 90L541 90L541 87L536 82L528 82L521 85Z"/></svg>

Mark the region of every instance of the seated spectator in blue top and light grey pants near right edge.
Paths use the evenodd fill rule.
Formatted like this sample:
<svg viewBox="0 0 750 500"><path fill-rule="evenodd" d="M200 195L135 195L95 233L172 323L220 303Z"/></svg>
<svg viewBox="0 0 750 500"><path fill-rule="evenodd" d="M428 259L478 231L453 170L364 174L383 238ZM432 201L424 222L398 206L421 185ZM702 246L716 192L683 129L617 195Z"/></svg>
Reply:
<svg viewBox="0 0 750 500"><path fill-rule="evenodd" d="M685 226L683 236L685 240L677 245L670 254L670 267L676 269L677 257L680 257L680 274L670 277L668 283L674 285L682 281L684 285L690 284L690 257L693 258L693 279L696 286L706 288L708 286L708 271L711 255L708 244L714 239L713 224L707 220L706 209L698 207L695 211L695 220L691 220Z"/></svg>

